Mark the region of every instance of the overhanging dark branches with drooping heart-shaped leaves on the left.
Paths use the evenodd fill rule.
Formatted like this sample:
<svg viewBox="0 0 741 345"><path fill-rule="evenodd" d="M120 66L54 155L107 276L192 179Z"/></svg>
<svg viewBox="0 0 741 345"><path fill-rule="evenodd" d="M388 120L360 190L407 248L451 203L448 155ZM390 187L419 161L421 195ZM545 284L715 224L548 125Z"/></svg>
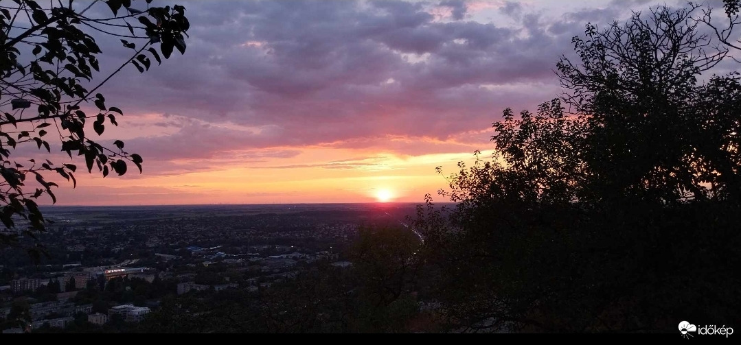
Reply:
<svg viewBox="0 0 741 345"><path fill-rule="evenodd" d="M81 155L88 172L96 167L104 177L110 172L124 175L127 161L142 172L142 156L125 151L120 140L112 146L96 142L90 127L101 135L106 124L116 126L116 115L123 115L96 91L124 67L131 64L143 73L149 70L151 58L161 63L162 58L170 58L173 48L185 53L184 35L190 27L185 7L150 7L150 1L81 4L68 0L42 7L32 0L14 0L0 8L0 221L13 230L0 233L0 244L21 246L19 232L33 237L34 232L44 231L46 221L36 200L47 195L56 202L53 187L58 185L50 175L76 186L75 164L16 161L13 153L20 147L36 145L49 155L61 149L70 159ZM91 7L102 4L113 16L90 15ZM109 39L122 38L133 54L109 76L99 76L102 51L83 29ZM90 102L94 108L88 107ZM19 219L24 222L16 224ZM42 249L38 243L24 248L35 258Z"/></svg>

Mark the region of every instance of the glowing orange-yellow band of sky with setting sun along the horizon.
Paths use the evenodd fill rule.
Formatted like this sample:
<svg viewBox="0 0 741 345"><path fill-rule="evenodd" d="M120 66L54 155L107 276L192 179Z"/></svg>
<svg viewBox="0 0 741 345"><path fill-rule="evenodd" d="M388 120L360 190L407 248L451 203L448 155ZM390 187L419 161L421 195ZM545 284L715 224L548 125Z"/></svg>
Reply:
<svg viewBox="0 0 741 345"><path fill-rule="evenodd" d="M74 190L61 181L55 191L59 199L56 204L422 203L426 193L435 195L447 186L435 167L442 166L447 175L459 170L458 161L468 165L473 158L473 150L422 155L322 147L296 150L299 153L294 156L264 157L247 163L227 156L145 163L141 175L135 171L124 177L102 178L85 171L76 174ZM50 204L50 200L40 201Z"/></svg>

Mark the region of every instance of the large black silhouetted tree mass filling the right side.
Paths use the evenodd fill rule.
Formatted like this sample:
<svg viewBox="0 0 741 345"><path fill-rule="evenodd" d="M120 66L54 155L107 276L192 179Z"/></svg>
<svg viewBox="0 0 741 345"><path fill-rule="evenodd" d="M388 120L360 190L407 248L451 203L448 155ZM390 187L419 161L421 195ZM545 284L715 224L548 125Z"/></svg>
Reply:
<svg viewBox="0 0 741 345"><path fill-rule="evenodd" d="M741 88L685 9L586 25L565 94L494 124L493 161L420 209L432 298L454 331L667 332L740 318ZM708 269L708 267L712 267ZM705 271L708 269L708 271ZM696 296L696 297L690 297ZM690 316L692 315L692 316Z"/></svg>

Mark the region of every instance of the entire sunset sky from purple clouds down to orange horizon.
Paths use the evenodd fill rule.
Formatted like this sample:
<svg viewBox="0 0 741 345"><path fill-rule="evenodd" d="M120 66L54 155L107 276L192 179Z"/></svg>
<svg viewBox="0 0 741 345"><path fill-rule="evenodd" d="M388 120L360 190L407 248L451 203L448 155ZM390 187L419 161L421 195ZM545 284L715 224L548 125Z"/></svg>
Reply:
<svg viewBox="0 0 741 345"><path fill-rule="evenodd" d="M445 201L435 168L490 157L502 110L560 96L556 62L586 23L654 4L153 1L175 3L191 24L185 55L127 66L102 88L124 116L96 140L122 139L143 172L78 170L74 190L55 180L56 204ZM103 76L129 52L96 38Z"/></svg>

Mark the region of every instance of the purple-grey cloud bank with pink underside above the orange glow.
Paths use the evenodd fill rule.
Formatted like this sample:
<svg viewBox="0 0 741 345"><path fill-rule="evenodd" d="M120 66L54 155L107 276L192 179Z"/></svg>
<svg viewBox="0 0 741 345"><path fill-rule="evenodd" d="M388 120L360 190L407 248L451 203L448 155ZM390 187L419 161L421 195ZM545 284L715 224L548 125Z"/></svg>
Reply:
<svg viewBox="0 0 741 345"><path fill-rule="evenodd" d="M491 124L505 107L558 96L552 70L571 37L624 7L553 20L506 2L500 10L519 24L505 27L472 21L461 0L183 4L191 23L185 55L144 74L127 67L102 89L124 113L178 116L140 124L176 129L171 135L126 141L158 161L307 145L376 147L376 138L388 135L453 138ZM449 8L450 20L437 21L434 7ZM103 69L118 67L128 51L118 40L99 43L114 53ZM462 148L386 144L428 153Z"/></svg>

